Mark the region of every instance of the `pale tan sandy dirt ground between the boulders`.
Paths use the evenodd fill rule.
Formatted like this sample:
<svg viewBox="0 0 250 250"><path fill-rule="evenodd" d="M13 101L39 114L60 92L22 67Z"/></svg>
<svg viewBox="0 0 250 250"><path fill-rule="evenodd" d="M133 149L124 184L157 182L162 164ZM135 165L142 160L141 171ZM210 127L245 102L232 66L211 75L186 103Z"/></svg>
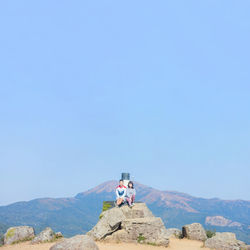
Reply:
<svg viewBox="0 0 250 250"><path fill-rule="evenodd" d="M30 242L19 243L16 245L10 246L3 246L1 250L49 250L54 243L42 243L31 245ZM112 244L112 243L101 243L97 242L100 250L205 250L208 248L204 248L203 243L194 240L187 240L187 239L170 239L170 244L168 248L165 247L156 247L150 245L142 245L142 244L128 244L128 243L119 243L119 244Z"/></svg>

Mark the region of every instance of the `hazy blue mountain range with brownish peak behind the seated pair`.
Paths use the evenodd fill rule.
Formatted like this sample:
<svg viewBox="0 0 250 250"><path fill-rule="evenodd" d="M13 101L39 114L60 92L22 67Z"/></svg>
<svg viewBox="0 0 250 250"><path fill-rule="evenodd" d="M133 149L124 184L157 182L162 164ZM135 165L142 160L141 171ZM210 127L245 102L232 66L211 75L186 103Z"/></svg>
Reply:
<svg viewBox="0 0 250 250"><path fill-rule="evenodd" d="M0 233L8 226L47 226L72 236L89 231L98 221L102 202L114 200L117 181L108 181L72 198L42 198L0 206ZM250 244L250 201L203 199L160 191L135 183L137 200L145 202L167 228L199 222L206 229L235 232ZM2 226L1 226L2 225Z"/></svg>

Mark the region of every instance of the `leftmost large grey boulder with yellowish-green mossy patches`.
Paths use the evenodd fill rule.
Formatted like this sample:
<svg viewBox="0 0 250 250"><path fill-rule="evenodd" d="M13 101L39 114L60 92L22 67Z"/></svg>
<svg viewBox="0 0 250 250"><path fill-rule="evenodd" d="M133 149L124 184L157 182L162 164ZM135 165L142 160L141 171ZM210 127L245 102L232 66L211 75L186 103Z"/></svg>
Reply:
<svg viewBox="0 0 250 250"><path fill-rule="evenodd" d="M10 245L34 238L34 228L28 226L10 227L4 235L4 244Z"/></svg>

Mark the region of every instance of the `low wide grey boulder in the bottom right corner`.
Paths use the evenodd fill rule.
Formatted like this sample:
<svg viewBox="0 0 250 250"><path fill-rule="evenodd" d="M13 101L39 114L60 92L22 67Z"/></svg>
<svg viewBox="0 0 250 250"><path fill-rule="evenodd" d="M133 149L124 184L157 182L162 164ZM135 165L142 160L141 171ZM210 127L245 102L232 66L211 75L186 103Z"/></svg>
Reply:
<svg viewBox="0 0 250 250"><path fill-rule="evenodd" d="M205 247L223 250L247 249L244 242L236 239L234 233L216 233L215 236L205 241Z"/></svg>

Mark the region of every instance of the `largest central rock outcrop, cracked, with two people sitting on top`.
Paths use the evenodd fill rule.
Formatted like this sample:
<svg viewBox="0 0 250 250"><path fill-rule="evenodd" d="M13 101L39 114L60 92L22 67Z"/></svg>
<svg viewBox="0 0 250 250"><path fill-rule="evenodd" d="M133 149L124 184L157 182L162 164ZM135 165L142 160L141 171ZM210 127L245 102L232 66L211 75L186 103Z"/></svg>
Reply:
<svg viewBox="0 0 250 250"><path fill-rule="evenodd" d="M88 235L95 240L109 242L140 242L162 246L169 244L162 220L154 217L145 203L136 203L133 208L123 206L103 212Z"/></svg>

